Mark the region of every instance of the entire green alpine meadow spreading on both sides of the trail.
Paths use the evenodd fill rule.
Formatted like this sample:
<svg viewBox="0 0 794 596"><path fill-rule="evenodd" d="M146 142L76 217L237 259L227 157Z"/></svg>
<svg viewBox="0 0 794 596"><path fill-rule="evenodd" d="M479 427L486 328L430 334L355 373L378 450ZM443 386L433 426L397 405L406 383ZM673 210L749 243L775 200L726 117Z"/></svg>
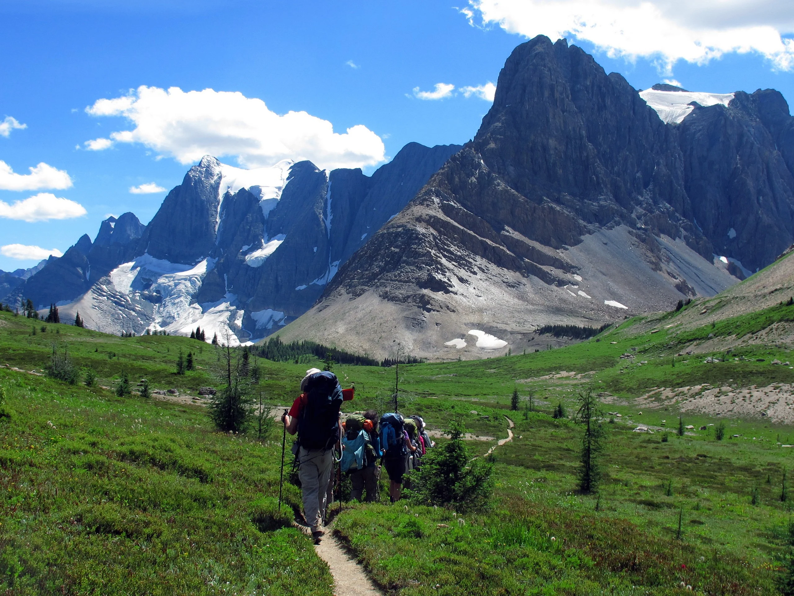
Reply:
<svg viewBox="0 0 794 596"><path fill-rule="evenodd" d="M423 416L439 447L451 420L464 424L469 457L507 438L507 418L515 424L513 439L490 456L488 508L458 514L407 500L389 505L384 473L380 503L345 504L337 536L391 594L677 594L687 586L698 594L775 594L794 497L794 448L782 445L794 442L794 428L682 410L654 392L694 387L688 395L698 397L709 387L788 386L794 369L772 364L791 358L784 346L758 340L726 354L715 339L738 335L731 329L760 336L787 324L794 307L742 315L734 327L676 331L685 313L628 319L582 343L531 354L399 371L334 364L342 385L357 387L345 411L391 411L396 385L399 411ZM74 384L46 375L53 350L79 370ZM181 375L180 350L195 368ZM322 368L312 358L251 358L260 373L254 397L268 406L290 404L306 369ZM150 391L181 396L220 387L214 346L118 338L2 312L6 364L20 369L0 368L6 594L331 594L328 567L291 527L296 486L285 482L288 514L276 512L274 425L265 424L264 435L256 424L224 434L203 405L137 393L143 379ZM136 390L118 397L125 376ZM592 494L578 491L583 431L572 420L586 390L603 402ZM563 416L555 418L559 407ZM650 432L633 432L641 424ZM692 428L679 435L679 426Z"/></svg>

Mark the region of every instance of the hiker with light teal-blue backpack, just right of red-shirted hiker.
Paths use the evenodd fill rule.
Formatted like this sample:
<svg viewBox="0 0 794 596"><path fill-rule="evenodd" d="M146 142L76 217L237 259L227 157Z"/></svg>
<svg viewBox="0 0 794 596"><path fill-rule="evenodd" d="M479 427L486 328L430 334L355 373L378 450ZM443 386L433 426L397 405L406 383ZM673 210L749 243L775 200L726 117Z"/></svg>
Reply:
<svg viewBox="0 0 794 596"><path fill-rule="evenodd" d="M372 421L367 420L364 416L351 414L345 420L340 466L342 473L348 474L350 483L353 485L350 490L350 498L357 501L361 500L364 488L367 490L367 501L376 501L380 474L376 474L378 453L372 444L371 433Z"/></svg>

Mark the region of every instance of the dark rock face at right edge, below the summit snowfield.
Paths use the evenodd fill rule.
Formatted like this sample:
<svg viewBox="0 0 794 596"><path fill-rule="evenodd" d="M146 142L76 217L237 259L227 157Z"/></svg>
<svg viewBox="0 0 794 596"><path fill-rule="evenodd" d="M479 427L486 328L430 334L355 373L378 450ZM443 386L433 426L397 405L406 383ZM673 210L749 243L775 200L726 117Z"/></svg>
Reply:
<svg viewBox="0 0 794 596"><path fill-rule="evenodd" d="M750 271L794 242L794 118L777 91L737 92L676 127L692 221Z"/></svg>

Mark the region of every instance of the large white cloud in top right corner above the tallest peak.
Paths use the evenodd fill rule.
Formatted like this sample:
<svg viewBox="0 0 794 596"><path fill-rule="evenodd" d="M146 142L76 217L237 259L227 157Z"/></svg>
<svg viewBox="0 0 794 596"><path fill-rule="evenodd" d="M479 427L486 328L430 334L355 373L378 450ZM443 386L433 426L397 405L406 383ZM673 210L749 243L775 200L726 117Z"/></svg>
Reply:
<svg viewBox="0 0 794 596"><path fill-rule="evenodd" d="M469 0L469 23L499 25L525 37L576 37L610 57L657 62L663 72L686 60L757 52L774 68L794 69L790 0Z"/></svg>

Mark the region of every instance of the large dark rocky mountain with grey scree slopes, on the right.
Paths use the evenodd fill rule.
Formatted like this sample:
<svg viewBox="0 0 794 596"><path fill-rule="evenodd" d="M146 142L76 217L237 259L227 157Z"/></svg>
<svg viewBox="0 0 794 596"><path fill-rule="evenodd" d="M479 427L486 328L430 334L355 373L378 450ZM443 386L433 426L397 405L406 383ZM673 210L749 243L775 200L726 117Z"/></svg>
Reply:
<svg viewBox="0 0 794 596"><path fill-rule="evenodd" d="M792 242L794 118L773 90L703 102L668 123L580 48L518 46L476 137L279 335L476 358L722 291Z"/></svg>

